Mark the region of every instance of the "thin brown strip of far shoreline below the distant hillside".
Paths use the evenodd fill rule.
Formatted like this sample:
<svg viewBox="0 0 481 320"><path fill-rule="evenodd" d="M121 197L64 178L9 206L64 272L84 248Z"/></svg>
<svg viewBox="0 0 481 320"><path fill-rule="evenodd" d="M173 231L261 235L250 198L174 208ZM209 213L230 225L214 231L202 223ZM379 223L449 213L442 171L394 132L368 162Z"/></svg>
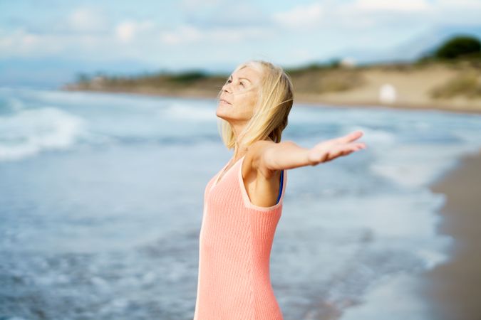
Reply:
<svg viewBox="0 0 481 320"><path fill-rule="evenodd" d="M202 92L202 91L187 91L187 92L152 92L146 91L128 91L128 90L77 90L77 89L63 89L58 90L64 92L97 92L97 93L118 93L123 95L137 95L137 96L147 96L147 97L179 97L185 99L215 99L217 96ZM319 97L294 97L294 103L300 105L308 105L310 107L358 107L358 108L371 108L371 109L381 109L381 110L411 110L411 111L441 111L441 112L452 112L461 114L481 114L481 109L472 109L469 107L452 107L448 104L413 104L413 103L393 103L393 104L381 104L380 102L343 102L336 100L327 100Z"/></svg>

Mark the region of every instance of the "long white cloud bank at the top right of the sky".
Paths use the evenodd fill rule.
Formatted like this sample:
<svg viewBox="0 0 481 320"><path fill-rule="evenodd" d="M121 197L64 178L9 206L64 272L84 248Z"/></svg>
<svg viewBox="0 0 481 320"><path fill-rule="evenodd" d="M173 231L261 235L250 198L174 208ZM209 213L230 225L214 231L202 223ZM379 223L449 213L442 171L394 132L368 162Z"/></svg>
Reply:
<svg viewBox="0 0 481 320"><path fill-rule="evenodd" d="M292 32L368 33L406 31L442 24L479 25L479 0L319 0L271 14L278 28ZM319 34L319 33L318 33Z"/></svg>

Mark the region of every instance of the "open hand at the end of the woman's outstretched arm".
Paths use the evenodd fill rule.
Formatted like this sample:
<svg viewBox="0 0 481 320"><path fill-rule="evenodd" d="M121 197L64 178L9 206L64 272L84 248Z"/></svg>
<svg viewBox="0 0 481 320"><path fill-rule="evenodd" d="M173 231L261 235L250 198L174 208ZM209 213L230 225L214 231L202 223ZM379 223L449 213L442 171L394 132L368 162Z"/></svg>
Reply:
<svg viewBox="0 0 481 320"><path fill-rule="evenodd" d="M307 151L307 161L311 166L316 166L321 162L331 161L338 156L347 156L353 151L366 149L366 144L363 142L353 142L362 137L363 132L355 131L346 134L343 137L338 137L326 140L316 144L313 148Z"/></svg>

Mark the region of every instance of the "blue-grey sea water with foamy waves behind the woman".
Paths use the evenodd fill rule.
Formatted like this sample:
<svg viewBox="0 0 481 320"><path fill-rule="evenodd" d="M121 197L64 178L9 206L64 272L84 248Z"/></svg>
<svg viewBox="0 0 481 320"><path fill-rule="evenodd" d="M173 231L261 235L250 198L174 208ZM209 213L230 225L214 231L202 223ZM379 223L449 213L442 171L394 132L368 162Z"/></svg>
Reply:
<svg viewBox="0 0 481 320"><path fill-rule="evenodd" d="M0 88L0 319L192 319L207 181L232 157L214 99ZM367 149L288 171L271 252L285 319L430 319L449 259L428 188L481 117L295 103L283 140Z"/></svg>

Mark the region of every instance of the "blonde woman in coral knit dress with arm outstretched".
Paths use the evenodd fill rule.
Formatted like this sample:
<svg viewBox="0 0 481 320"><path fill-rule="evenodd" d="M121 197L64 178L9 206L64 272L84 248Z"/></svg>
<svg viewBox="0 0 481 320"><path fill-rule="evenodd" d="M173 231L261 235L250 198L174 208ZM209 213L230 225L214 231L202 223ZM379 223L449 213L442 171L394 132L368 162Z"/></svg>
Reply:
<svg viewBox="0 0 481 320"><path fill-rule="evenodd" d="M311 149L281 142L293 104L289 76L271 63L239 65L217 97L221 136L234 156L207 183L200 230L195 320L283 319L269 277L286 169L366 148L362 132Z"/></svg>

